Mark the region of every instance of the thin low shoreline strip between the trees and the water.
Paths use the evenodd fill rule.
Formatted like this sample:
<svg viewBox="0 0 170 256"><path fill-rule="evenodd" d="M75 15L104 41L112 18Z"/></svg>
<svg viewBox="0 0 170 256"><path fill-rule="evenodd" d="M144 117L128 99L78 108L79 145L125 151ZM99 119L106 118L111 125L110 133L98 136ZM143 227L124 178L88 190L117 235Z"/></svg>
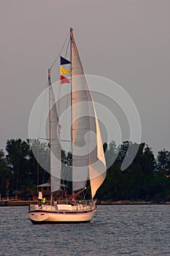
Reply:
<svg viewBox="0 0 170 256"><path fill-rule="evenodd" d="M29 206L30 204L36 204L37 201L27 200L1 200L0 207L4 206ZM139 206L139 205L170 205L170 202L152 202L152 201L111 201L111 200L98 200L98 206Z"/></svg>

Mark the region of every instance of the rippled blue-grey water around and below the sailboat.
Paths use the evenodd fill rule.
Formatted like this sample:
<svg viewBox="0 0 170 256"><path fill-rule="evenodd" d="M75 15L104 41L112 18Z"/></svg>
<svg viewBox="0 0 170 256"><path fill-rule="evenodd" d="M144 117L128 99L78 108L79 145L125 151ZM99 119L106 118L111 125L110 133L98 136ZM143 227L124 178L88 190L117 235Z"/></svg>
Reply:
<svg viewBox="0 0 170 256"><path fill-rule="evenodd" d="M1 207L0 255L170 255L170 206L98 206L90 223L32 225L27 207Z"/></svg>

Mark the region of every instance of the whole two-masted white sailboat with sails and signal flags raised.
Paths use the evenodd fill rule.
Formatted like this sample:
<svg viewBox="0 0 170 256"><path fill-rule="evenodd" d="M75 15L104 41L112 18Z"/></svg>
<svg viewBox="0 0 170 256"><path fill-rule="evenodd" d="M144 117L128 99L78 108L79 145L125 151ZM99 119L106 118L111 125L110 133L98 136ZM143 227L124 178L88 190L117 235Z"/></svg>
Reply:
<svg viewBox="0 0 170 256"><path fill-rule="evenodd" d="M72 193L69 198L65 197L62 200L60 197L56 197L64 184L58 111L49 69L51 198L49 203L42 203L41 206L38 203L29 206L28 218L34 224L90 222L96 211L96 200L94 199L96 191L106 177L107 168L96 109L72 28L69 34L69 44L70 59L60 56L60 80L62 86L64 83L71 86L72 166L69 167L69 171L72 170ZM81 195L87 189L87 184L90 186L90 198L77 198L77 195Z"/></svg>

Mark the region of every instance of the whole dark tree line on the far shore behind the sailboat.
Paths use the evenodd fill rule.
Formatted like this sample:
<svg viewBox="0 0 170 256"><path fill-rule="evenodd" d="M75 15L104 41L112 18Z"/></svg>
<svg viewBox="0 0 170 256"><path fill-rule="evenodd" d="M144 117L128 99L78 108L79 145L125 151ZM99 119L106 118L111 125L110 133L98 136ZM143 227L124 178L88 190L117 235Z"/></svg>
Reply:
<svg viewBox="0 0 170 256"><path fill-rule="evenodd" d="M34 147L34 154L32 151ZM125 170L123 159L131 158L134 148L136 157ZM7 154L0 150L0 194L12 197L15 189L25 199L26 193L36 192L37 184L47 182L50 174L50 152L47 143L39 140L7 140ZM98 189L98 200L170 200L170 151L165 149L155 157L146 143L125 141L117 146L114 141L104 143L107 177ZM72 155L61 152L62 162L72 165ZM36 155L37 154L37 155ZM36 159L43 161L43 167ZM37 170L39 170L37 172Z"/></svg>

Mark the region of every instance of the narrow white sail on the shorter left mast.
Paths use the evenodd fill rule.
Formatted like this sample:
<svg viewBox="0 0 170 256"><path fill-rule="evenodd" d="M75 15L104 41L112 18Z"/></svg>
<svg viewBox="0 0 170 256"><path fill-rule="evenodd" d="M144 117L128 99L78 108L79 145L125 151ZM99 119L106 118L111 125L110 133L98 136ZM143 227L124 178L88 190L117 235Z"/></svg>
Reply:
<svg viewBox="0 0 170 256"><path fill-rule="evenodd" d="M50 108L50 180L51 192L61 188L61 145L58 134L58 115L55 97L49 75L49 108Z"/></svg>

